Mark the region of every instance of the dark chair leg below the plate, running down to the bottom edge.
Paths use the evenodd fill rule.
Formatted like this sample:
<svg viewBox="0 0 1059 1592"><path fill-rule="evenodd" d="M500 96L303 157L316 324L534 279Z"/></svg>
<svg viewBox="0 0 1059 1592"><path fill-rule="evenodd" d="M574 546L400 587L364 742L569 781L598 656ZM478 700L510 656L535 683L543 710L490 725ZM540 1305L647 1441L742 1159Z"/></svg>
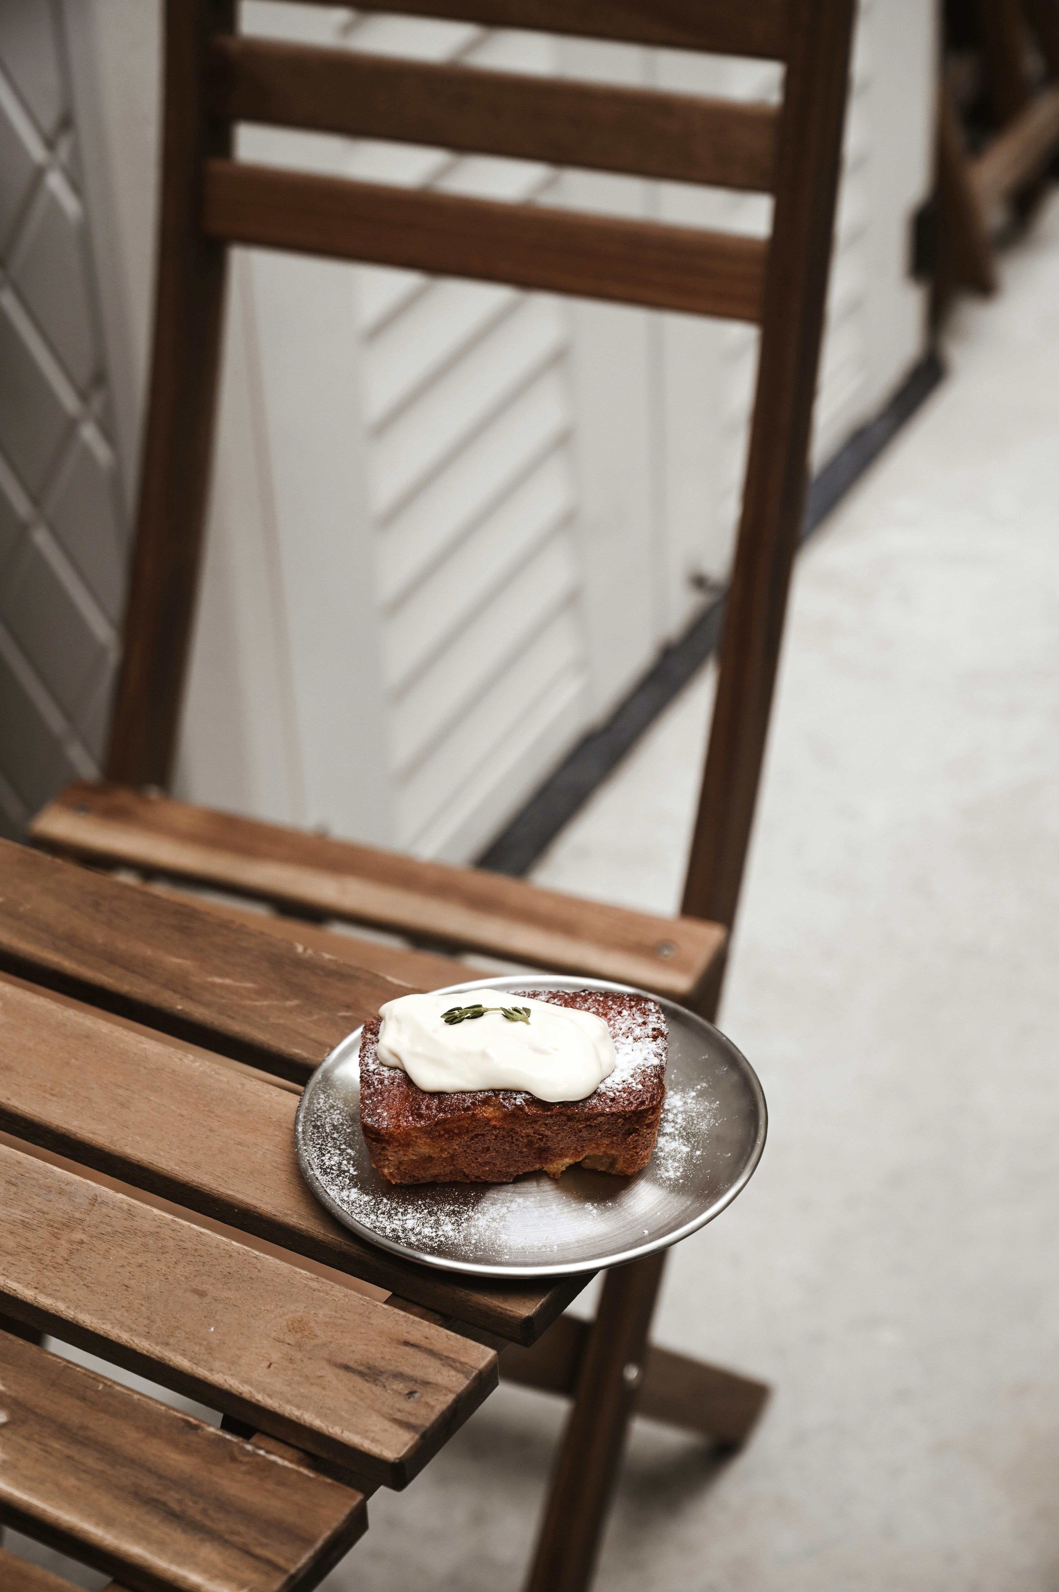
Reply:
<svg viewBox="0 0 1059 1592"><path fill-rule="evenodd" d="M666 1256L607 1272L526 1592L584 1592L618 1477Z"/></svg>

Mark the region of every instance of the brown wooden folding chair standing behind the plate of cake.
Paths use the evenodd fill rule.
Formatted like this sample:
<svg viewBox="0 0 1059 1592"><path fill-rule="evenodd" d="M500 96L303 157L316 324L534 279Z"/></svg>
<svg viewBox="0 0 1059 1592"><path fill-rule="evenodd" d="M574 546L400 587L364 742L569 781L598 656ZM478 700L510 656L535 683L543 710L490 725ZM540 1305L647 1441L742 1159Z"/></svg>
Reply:
<svg viewBox="0 0 1059 1592"><path fill-rule="evenodd" d="M94 864L205 882L304 917L347 919L430 946L623 979L712 1016L804 506L854 0L406 0L400 6L417 16L779 60L785 64L779 108L266 43L237 37L234 10L234 0L167 5L154 361L107 783L67 790L38 815L32 839ZM766 193L774 196L772 229L761 240L248 166L233 159L239 121ZM578 901L161 794L170 777L201 564L231 244L761 328L742 517L682 917ZM427 965L422 952L344 944L363 965L411 982L438 987L467 977L465 965L438 957ZM540 1353L524 1352L526 1363L511 1366L519 1380L573 1393L529 1581L533 1592L586 1586L640 1395L662 1418L731 1442L760 1409L758 1383L647 1350L661 1270L662 1258L653 1256L612 1272L591 1329L561 1321Z"/></svg>

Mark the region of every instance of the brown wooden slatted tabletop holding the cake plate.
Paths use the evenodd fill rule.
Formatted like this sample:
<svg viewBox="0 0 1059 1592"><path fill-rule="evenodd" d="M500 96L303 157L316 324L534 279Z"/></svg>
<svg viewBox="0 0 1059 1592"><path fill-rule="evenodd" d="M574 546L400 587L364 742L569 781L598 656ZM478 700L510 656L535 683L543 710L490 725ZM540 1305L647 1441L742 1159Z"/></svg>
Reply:
<svg viewBox="0 0 1059 1592"><path fill-rule="evenodd" d="M315 1586L588 1282L430 1270L309 1194L301 1084L404 989L0 842L0 1520L129 1592Z"/></svg>

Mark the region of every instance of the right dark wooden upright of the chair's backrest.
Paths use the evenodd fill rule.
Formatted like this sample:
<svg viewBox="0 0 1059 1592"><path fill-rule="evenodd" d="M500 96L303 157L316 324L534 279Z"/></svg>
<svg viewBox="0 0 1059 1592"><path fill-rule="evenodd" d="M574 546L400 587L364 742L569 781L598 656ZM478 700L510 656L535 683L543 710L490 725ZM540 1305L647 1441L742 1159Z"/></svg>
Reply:
<svg viewBox="0 0 1059 1592"><path fill-rule="evenodd" d="M852 0L791 6L772 247L739 538L682 911L731 928L806 500Z"/></svg>

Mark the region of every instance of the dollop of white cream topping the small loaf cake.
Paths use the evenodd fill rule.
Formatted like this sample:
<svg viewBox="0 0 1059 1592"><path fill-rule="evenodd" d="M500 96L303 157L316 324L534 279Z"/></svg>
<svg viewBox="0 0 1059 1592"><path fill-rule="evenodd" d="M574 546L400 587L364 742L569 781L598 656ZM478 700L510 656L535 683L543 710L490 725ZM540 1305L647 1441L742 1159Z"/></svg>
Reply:
<svg viewBox="0 0 1059 1592"><path fill-rule="evenodd" d="M454 1006L510 1006L446 1024ZM379 1008L379 1060L400 1067L427 1094L465 1089L524 1089L538 1100L584 1100L615 1068L615 1041L602 1017L553 1006L529 995L462 990L459 995L400 995Z"/></svg>

